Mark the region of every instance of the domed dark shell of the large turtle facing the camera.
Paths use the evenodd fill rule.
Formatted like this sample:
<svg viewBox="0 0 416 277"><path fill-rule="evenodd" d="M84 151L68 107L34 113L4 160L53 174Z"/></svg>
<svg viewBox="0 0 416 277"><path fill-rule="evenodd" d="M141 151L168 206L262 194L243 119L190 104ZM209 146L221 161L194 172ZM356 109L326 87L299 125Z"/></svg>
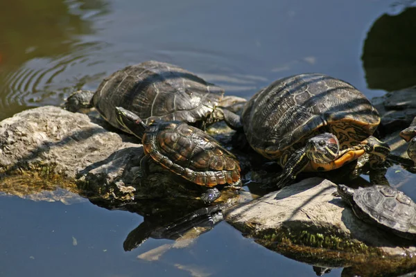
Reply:
<svg viewBox="0 0 416 277"><path fill-rule="evenodd" d="M245 105L243 128L248 142L268 159L288 148L330 132L341 150L361 143L380 122L378 111L347 82L318 73L293 75L257 92Z"/></svg>

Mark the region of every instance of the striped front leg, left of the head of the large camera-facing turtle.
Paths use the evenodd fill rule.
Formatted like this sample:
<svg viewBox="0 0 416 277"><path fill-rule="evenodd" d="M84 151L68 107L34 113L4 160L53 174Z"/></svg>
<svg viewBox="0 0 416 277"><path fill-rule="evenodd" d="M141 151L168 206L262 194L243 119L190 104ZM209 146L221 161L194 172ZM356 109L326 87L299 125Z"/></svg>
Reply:
<svg viewBox="0 0 416 277"><path fill-rule="evenodd" d="M296 176L308 166L311 161L306 156L306 147L296 150L284 165L283 172L277 179L277 188L284 188L292 184Z"/></svg>

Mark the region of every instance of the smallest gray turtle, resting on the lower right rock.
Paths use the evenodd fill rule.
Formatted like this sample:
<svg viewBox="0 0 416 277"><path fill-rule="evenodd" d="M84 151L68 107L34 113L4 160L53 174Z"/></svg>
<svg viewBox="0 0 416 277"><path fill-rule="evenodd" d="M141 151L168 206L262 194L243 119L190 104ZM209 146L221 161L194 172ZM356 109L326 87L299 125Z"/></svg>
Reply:
<svg viewBox="0 0 416 277"><path fill-rule="evenodd" d="M338 193L361 220L401 238L416 238L416 204L396 188L375 185L354 189L339 185Z"/></svg>

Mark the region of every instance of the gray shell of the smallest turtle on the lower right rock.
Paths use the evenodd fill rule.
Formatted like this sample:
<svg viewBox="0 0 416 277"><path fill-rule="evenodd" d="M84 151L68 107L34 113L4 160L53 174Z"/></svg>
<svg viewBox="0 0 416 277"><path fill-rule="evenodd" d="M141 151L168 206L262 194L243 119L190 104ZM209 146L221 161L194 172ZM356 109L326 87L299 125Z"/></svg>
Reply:
<svg viewBox="0 0 416 277"><path fill-rule="evenodd" d="M416 204L401 191L388 186L358 188L354 202L378 224L416 235Z"/></svg>

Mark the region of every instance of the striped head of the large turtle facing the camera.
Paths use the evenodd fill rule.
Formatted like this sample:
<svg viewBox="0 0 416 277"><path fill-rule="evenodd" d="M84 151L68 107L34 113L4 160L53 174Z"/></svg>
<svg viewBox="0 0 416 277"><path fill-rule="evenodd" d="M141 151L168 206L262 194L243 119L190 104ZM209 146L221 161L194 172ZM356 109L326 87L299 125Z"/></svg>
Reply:
<svg viewBox="0 0 416 277"><path fill-rule="evenodd" d="M338 158L340 143L333 134L313 136L306 142L306 156L315 163L329 163Z"/></svg>

